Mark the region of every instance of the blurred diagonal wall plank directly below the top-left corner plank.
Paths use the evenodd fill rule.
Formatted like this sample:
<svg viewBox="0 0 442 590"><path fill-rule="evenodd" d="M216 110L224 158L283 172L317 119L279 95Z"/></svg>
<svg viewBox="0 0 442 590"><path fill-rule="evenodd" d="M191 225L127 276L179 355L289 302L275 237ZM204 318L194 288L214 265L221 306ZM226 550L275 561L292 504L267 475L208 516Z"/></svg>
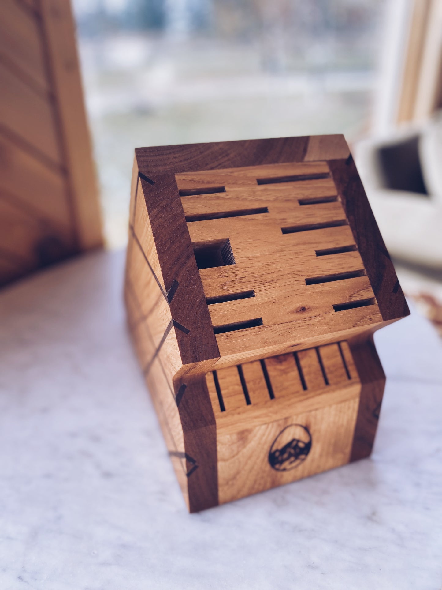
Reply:
<svg viewBox="0 0 442 590"><path fill-rule="evenodd" d="M0 86L0 125L17 136L19 142L25 142L37 158L49 159L61 167L63 158L53 102L35 93L1 62Z"/></svg>

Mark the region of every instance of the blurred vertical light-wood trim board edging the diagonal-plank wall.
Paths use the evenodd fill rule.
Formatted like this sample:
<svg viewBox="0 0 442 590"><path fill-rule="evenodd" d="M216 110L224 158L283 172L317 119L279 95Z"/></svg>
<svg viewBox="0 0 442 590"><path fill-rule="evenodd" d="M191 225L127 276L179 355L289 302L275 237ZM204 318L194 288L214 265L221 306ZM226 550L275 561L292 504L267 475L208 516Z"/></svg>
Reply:
<svg viewBox="0 0 442 590"><path fill-rule="evenodd" d="M69 0L41 0L47 59L73 201L80 250L100 247L100 204Z"/></svg>

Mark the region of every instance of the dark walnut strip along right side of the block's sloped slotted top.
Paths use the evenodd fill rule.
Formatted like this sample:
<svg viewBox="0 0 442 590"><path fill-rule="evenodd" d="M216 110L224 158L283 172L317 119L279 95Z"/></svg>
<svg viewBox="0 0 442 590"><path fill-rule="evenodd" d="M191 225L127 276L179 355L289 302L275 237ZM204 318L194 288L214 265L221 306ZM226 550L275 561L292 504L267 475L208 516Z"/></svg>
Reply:
<svg viewBox="0 0 442 590"><path fill-rule="evenodd" d="M407 301L353 159L350 156L347 160L328 160L328 165L367 270L382 319L387 321L408 316L410 310Z"/></svg>

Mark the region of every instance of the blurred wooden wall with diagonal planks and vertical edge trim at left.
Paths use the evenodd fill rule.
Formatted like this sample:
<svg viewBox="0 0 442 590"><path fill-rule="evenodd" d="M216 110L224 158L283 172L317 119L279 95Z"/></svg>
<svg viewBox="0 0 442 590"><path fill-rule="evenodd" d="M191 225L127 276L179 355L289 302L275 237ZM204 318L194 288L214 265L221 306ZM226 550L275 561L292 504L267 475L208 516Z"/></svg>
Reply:
<svg viewBox="0 0 442 590"><path fill-rule="evenodd" d="M101 247L70 0L0 2L0 286Z"/></svg>

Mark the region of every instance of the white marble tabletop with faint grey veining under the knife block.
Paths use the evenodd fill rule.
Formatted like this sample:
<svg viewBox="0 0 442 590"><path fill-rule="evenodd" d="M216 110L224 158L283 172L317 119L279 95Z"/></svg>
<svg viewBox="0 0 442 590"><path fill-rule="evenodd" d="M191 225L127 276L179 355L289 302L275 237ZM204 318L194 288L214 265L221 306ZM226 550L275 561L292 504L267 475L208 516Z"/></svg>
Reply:
<svg viewBox="0 0 442 590"><path fill-rule="evenodd" d="M0 588L438 590L442 346L378 333L368 460L189 515L126 332L122 254L0 293Z"/></svg>

